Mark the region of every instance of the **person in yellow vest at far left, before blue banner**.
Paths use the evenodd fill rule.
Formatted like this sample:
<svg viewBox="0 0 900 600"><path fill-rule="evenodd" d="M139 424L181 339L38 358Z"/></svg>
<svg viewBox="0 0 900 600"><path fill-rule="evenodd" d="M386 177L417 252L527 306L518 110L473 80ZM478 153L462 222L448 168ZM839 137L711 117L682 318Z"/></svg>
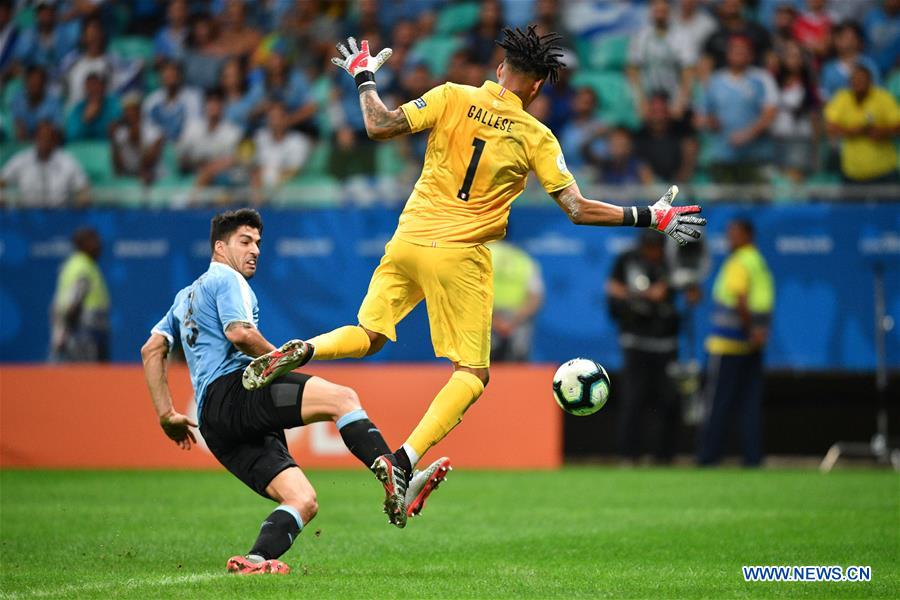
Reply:
<svg viewBox="0 0 900 600"><path fill-rule="evenodd" d="M97 265L102 243L93 229L72 236L75 251L59 270L51 307L50 360L109 360L109 292Z"/></svg>

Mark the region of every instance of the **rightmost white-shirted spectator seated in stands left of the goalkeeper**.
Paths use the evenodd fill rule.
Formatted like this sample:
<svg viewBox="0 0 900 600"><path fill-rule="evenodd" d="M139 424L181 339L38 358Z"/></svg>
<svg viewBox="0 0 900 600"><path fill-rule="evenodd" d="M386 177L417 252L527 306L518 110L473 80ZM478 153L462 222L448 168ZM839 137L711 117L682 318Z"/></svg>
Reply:
<svg viewBox="0 0 900 600"><path fill-rule="evenodd" d="M300 172L312 151L306 135L290 130L288 112L280 102L272 102L266 127L256 132L256 169L252 183L257 199Z"/></svg>

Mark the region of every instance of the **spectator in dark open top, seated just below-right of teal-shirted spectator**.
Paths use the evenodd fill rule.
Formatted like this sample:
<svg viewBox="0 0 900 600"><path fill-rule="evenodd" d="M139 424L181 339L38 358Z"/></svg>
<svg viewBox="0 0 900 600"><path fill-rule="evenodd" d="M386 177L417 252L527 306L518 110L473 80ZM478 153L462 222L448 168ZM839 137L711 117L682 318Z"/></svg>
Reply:
<svg viewBox="0 0 900 600"><path fill-rule="evenodd" d="M122 98L122 118L110 131L113 169L116 175L138 177L144 185L157 178L163 147L162 131L141 118L141 97L136 92Z"/></svg>

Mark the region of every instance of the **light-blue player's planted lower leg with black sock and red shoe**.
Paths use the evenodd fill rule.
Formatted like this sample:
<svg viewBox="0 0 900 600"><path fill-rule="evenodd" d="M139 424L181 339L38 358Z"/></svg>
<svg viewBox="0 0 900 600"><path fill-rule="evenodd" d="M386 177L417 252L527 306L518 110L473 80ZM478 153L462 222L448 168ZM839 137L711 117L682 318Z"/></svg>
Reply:
<svg viewBox="0 0 900 600"><path fill-rule="evenodd" d="M316 492L297 467L285 469L266 487L266 494L281 504L259 529L250 551L228 559L226 570L237 575L287 575L291 568L278 560L293 545L319 510Z"/></svg>

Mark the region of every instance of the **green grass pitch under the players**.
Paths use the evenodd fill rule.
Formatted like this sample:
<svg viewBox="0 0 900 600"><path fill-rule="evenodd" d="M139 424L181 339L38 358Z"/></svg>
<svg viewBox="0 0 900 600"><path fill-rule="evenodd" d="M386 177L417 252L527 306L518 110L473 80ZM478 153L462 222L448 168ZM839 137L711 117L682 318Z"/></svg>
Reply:
<svg viewBox="0 0 900 600"><path fill-rule="evenodd" d="M453 472L405 530L367 473L314 471L287 577L235 577L272 504L224 472L0 472L4 598L900 598L887 471ZM742 565L870 565L745 583Z"/></svg>

